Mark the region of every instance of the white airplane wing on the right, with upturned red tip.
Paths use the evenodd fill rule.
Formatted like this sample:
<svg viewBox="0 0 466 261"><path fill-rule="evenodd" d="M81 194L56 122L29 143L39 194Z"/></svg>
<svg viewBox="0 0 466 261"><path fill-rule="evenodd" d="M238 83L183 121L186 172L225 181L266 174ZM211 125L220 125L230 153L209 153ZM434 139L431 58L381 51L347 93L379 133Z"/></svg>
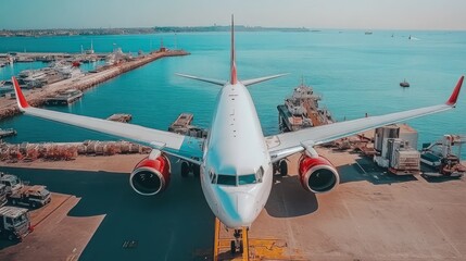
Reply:
<svg viewBox="0 0 466 261"><path fill-rule="evenodd" d="M268 136L265 139L272 161L278 161L293 153L303 151L307 147L313 147L314 145L329 142L367 129L450 110L456 104L463 79L464 76L459 78L459 82L454 88L450 99L443 104L395 112L380 116L368 116L358 120L338 122L329 125L305 128L298 132Z"/></svg>

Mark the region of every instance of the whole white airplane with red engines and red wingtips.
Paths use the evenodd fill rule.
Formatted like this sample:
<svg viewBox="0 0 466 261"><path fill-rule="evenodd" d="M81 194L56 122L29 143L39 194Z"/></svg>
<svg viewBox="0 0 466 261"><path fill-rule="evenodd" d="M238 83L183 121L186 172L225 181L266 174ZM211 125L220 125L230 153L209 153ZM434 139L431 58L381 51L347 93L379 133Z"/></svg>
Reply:
<svg viewBox="0 0 466 261"><path fill-rule="evenodd" d="M131 188L143 196L165 190L173 172L167 156L181 160L181 175L193 166L212 212L235 236L250 227L267 202L275 170L287 175L286 159L301 153L299 179L314 194L328 192L339 184L339 173L319 156L315 146L357 133L455 108L464 76L446 102L379 116L338 122L265 137L248 87L284 74L240 80L235 52L235 23L231 17L230 72L228 80L179 74L182 77L221 86L206 138L196 138L143 126L110 122L30 107L15 77L12 77L20 110L27 115L113 135L152 148L129 175Z"/></svg>

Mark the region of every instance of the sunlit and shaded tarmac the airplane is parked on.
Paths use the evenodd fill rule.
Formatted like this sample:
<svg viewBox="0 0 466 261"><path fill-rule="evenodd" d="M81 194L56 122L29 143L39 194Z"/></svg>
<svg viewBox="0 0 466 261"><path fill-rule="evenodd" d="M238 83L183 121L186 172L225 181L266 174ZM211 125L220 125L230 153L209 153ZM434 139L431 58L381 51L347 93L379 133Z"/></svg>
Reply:
<svg viewBox="0 0 466 261"><path fill-rule="evenodd" d="M273 241L279 256L261 257L252 244L253 260L466 260L463 179L394 176L358 154L319 153L339 170L340 185L322 195L305 191L295 174L299 157L292 157L290 175L275 178L249 232L250 239ZM181 178L174 163L163 195L139 196L125 173L140 159L1 162L1 171L54 194L39 212L53 211L33 212L40 222L23 243L0 240L0 260L212 260L214 216L199 181Z"/></svg>

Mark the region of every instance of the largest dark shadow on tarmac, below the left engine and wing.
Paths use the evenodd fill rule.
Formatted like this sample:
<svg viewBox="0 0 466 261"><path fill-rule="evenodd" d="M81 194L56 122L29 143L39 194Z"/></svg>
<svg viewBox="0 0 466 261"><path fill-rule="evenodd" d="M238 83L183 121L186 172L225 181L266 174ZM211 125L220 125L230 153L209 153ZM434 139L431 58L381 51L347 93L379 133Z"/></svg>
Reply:
<svg viewBox="0 0 466 261"><path fill-rule="evenodd" d="M105 214L79 260L192 260L199 258L196 253L200 249L212 249L214 216L199 178L173 174L163 194L144 197L133 191L129 175L123 173L2 171L30 184L46 185L53 192L80 198L68 216ZM137 247L124 248L128 240L136 241Z"/></svg>

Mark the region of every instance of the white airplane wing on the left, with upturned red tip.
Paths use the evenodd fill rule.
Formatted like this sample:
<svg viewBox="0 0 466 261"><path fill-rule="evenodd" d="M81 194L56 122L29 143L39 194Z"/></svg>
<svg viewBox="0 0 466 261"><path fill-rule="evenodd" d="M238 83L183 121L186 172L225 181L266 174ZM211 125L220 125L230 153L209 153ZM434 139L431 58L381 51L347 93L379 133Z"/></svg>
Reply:
<svg viewBox="0 0 466 261"><path fill-rule="evenodd" d="M16 78L12 77L20 110L27 115L73 125L162 150L192 163L202 162L203 139L158 130L128 123L111 122L102 119L55 112L30 107L24 98Z"/></svg>

